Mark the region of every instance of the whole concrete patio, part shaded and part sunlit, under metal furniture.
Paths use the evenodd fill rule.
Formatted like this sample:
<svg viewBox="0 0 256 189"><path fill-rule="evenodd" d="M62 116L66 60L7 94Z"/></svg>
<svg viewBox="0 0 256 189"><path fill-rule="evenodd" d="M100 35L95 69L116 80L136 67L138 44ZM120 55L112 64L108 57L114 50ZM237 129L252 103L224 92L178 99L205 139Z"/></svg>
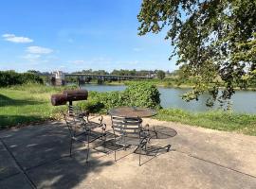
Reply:
<svg viewBox="0 0 256 189"><path fill-rule="evenodd" d="M104 117L107 126L110 118ZM70 158L62 122L0 131L0 188L256 188L256 137L145 119L173 135L152 140L170 152L143 156L114 154L76 145Z"/></svg>

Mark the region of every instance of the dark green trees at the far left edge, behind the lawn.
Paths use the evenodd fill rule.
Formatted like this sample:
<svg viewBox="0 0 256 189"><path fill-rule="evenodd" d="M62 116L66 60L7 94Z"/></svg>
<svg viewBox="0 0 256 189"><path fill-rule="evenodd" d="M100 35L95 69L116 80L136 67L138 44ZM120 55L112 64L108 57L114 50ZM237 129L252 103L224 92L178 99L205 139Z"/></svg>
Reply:
<svg viewBox="0 0 256 189"><path fill-rule="evenodd" d="M25 83L44 83L42 77L33 73L16 73L15 71L0 71L0 87L21 85Z"/></svg>

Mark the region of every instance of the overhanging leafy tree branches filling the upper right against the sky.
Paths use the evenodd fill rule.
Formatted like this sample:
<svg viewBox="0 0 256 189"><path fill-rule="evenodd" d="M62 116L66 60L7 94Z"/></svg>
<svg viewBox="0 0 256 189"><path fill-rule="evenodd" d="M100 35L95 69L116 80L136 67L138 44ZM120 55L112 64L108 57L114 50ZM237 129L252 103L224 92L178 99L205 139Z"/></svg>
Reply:
<svg viewBox="0 0 256 189"><path fill-rule="evenodd" d="M219 99L229 99L256 76L256 0L143 0L137 18L139 35L168 27L170 59L195 80L185 99L208 92L214 101L223 86Z"/></svg>

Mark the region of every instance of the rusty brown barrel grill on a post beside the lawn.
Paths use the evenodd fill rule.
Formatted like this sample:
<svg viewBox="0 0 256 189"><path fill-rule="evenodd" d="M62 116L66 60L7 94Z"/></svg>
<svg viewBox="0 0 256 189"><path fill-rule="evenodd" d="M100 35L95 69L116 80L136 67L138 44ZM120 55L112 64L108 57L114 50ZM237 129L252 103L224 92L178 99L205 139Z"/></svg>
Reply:
<svg viewBox="0 0 256 189"><path fill-rule="evenodd" d="M73 113L73 101L87 100L88 92L86 90L66 90L63 94L52 94L51 104L53 106L62 106L68 102L68 112Z"/></svg>

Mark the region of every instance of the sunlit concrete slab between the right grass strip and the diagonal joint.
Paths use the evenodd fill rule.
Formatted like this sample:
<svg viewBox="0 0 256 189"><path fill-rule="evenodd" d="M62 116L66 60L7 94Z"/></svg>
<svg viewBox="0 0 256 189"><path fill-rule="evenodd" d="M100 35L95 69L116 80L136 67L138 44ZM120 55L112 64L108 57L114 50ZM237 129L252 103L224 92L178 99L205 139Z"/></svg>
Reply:
<svg viewBox="0 0 256 189"><path fill-rule="evenodd" d="M175 150L207 162L217 163L256 177L256 137L187 125L145 120L155 126L175 129Z"/></svg>

